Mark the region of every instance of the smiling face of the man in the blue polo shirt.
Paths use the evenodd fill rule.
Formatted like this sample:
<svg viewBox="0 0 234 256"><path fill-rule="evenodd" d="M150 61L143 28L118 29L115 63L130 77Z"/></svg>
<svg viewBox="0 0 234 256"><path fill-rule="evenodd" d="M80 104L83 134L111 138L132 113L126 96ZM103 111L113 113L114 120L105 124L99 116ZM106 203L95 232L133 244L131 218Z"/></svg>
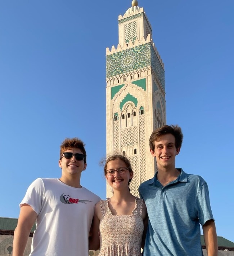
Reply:
<svg viewBox="0 0 234 256"><path fill-rule="evenodd" d="M175 137L171 133L162 135L154 145L150 153L156 157L158 169L175 169L175 156L180 152L180 148L175 147Z"/></svg>

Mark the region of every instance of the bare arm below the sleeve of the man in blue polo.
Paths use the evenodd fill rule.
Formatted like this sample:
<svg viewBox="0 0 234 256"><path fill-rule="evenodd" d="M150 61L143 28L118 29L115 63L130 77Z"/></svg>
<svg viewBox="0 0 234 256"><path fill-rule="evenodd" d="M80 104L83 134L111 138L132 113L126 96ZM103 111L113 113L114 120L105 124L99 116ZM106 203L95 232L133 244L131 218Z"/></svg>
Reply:
<svg viewBox="0 0 234 256"><path fill-rule="evenodd" d="M215 228L215 222L208 220L203 226L204 241L206 244L206 251L208 256L218 255L218 241Z"/></svg>

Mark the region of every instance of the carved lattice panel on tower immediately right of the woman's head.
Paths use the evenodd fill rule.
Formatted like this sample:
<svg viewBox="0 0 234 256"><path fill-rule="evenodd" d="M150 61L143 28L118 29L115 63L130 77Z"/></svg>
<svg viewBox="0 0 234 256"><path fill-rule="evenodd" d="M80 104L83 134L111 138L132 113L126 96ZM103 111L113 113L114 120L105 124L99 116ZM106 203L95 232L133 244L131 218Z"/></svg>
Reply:
<svg viewBox="0 0 234 256"><path fill-rule="evenodd" d="M135 197L139 197L138 187L139 187L139 155L134 155L130 158L132 171L134 172L134 176L132 181L130 182L130 190L131 194Z"/></svg>

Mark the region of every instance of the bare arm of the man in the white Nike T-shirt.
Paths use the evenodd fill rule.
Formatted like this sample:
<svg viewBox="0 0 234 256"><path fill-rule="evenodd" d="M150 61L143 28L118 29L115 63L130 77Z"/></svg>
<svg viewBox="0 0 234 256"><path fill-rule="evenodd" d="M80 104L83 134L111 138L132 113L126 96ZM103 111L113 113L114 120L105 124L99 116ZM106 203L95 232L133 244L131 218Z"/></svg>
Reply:
<svg viewBox="0 0 234 256"><path fill-rule="evenodd" d="M37 218L37 213L28 204L23 204L19 213L17 227L14 231L13 255L23 256L30 231Z"/></svg>

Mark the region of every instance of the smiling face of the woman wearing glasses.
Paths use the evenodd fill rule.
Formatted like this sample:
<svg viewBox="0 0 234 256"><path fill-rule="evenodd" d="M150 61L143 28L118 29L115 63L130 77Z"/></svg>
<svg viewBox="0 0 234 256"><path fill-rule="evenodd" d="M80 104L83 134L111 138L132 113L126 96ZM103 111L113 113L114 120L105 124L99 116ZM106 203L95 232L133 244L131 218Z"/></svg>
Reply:
<svg viewBox="0 0 234 256"><path fill-rule="evenodd" d="M107 171L108 170L117 170L121 167L127 167L125 162L123 162L121 159L115 159L111 160L107 164ZM132 178L133 173L129 172L129 170L126 170L125 173L119 174L117 171L114 173L113 176L105 175L107 182L113 189L127 189L128 190L128 183L129 180Z"/></svg>

